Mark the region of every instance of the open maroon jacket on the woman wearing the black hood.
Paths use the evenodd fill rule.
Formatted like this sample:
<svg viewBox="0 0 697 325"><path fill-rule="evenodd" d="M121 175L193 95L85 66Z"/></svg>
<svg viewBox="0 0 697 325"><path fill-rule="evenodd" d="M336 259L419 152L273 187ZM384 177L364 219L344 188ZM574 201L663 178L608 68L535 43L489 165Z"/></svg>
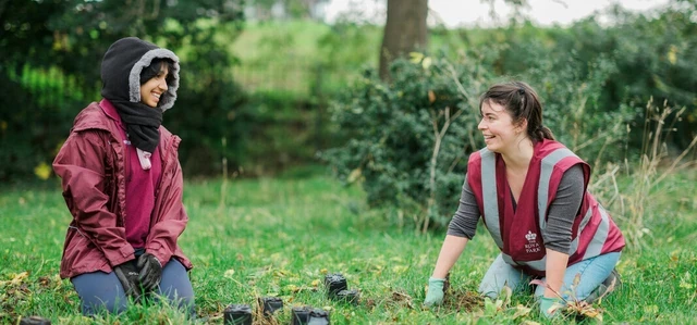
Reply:
<svg viewBox="0 0 697 325"><path fill-rule="evenodd" d="M159 132L162 180L156 189L145 249L163 265L174 258L191 270L191 261L176 245L188 222L182 204L181 139L163 126ZM73 216L63 247L62 278L96 271L109 273L112 266L135 259L125 239L125 148L119 139L115 121L93 102L75 117L53 161Z"/></svg>

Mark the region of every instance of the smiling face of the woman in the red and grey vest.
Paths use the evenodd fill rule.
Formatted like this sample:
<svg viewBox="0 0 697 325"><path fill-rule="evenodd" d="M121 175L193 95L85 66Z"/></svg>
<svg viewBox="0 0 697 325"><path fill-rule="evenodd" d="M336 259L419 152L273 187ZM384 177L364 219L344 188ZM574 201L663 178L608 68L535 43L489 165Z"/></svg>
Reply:
<svg viewBox="0 0 697 325"><path fill-rule="evenodd" d="M505 107L492 100L481 103L481 121L477 128L484 135L487 149L502 154L512 152L525 137L525 120L514 123Z"/></svg>

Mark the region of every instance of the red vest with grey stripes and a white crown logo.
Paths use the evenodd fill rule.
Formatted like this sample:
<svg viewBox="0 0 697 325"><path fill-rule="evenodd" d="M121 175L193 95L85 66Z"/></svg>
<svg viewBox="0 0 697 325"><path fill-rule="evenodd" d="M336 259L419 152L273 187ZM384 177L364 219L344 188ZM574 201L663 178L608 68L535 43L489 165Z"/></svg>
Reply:
<svg viewBox="0 0 697 325"><path fill-rule="evenodd" d="M469 157L467 183L477 199L484 223L506 263L545 276L547 212L554 201L562 175L576 164L584 170L585 195L572 226L568 265L617 252L624 247L624 237L617 226L586 190L590 166L560 142L537 142L514 211L501 154L485 148Z"/></svg>

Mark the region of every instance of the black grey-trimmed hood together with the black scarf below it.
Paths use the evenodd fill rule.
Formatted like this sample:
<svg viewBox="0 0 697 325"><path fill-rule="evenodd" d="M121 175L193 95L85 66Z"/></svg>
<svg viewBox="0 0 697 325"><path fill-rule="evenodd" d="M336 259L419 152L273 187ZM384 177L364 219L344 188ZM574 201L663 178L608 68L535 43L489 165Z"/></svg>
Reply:
<svg viewBox="0 0 697 325"><path fill-rule="evenodd" d="M151 108L140 102L140 73L156 58L172 60L172 71L169 72L172 78L158 107ZM179 58L170 50L136 37L122 38L111 45L105 54L101 80L101 96L117 108L121 121L126 125L131 143L143 151L154 152L160 141L162 112L176 100Z"/></svg>

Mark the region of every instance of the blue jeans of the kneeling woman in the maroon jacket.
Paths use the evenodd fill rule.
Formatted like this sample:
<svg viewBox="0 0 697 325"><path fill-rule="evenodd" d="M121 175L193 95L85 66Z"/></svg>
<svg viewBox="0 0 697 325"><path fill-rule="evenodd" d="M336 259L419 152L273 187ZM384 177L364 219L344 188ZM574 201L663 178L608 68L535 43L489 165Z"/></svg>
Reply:
<svg viewBox="0 0 697 325"><path fill-rule="evenodd" d="M91 316L105 310L118 314L126 310L129 299L113 272L85 273L70 280L80 296L83 315ZM164 265L162 279L155 292L194 315L194 289L186 268L178 260L171 259Z"/></svg>

